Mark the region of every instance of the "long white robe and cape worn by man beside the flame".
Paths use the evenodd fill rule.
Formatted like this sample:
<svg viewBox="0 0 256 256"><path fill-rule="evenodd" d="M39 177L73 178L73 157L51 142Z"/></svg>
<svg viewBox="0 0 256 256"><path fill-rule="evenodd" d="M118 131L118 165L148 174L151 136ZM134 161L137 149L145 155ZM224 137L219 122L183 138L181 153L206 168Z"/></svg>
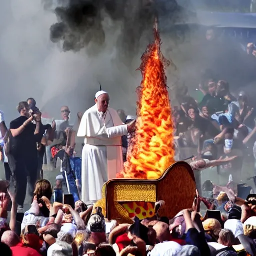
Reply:
<svg viewBox="0 0 256 256"><path fill-rule="evenodd" d="M82 149L82 201L92 203L101 199L101 188L123 168L121 136L128 133L117 112L108 108L102 117L97 105L82 116L77 132L85 137Z"/></svg>

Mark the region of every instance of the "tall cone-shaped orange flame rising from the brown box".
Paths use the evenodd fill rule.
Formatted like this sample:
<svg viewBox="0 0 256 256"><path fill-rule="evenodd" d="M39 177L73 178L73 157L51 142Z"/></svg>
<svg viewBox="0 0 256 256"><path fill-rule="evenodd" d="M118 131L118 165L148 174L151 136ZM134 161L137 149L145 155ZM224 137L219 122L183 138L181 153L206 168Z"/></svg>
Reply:
<svg viewBox="0 0 256 256"><path fill-rule="evenodd" d="M157 179L174 163L173 122L157 23L155 41L141 57L136 132L119 177Z"/></svg>

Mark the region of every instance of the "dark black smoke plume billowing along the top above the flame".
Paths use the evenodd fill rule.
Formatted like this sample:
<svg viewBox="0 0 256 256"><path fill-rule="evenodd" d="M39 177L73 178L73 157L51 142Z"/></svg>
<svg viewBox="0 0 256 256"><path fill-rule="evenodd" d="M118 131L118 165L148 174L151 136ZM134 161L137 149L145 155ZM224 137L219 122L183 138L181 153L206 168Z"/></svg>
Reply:
<svg viewBox="0 0 256 256"><path fill-rule="evenodd" d="M156 16L168 13L173 20L179 12L175 0L48 0L46 6L54 9L58 20L50 28L51 40L60 42L64 51L85 48L89 55L100 54L108 43L106 33L117 29L115 47L118 57L125 57L122 61L138 53L143 36L149 42Z"/></svg>

